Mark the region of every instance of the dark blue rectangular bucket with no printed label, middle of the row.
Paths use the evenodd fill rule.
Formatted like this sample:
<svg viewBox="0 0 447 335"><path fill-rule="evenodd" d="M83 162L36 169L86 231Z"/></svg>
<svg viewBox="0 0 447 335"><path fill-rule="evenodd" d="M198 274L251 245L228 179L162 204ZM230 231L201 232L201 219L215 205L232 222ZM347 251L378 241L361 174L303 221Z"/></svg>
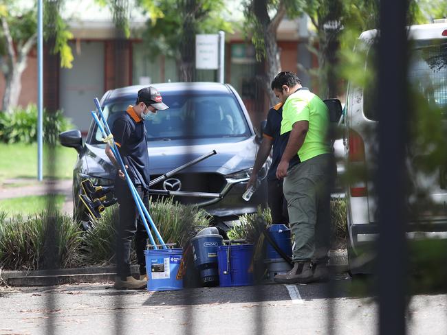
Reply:
<svg viewBox="0 0 447 335"><path fill-rule="evenodd" d="M253 244L218 246L220 286L253 285L252 257Z"/></svg>

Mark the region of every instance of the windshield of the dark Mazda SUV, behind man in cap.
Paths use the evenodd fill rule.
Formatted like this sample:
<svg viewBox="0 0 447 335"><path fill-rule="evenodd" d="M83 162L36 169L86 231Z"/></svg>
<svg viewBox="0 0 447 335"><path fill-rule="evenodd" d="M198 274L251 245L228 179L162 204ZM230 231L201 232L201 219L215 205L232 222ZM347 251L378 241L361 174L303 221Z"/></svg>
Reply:
<svg viewBox="0 0 447 335"><path fill-rule="evenodd" d="M162 93L162 96L169 108L144 122L148 141L250 136L246 117L232 95ZM131 104L135 100L106 104L103 112L110 128ZM96 141L101 138L100 131L96 130Z"/></svg>

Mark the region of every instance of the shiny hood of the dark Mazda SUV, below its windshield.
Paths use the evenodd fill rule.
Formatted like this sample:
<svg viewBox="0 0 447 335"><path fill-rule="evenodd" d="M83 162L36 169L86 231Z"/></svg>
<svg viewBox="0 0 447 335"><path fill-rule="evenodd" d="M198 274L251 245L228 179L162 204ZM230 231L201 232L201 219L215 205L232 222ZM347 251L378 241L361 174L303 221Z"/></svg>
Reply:
<svg viewBox="0 0 447 335"><path fill-rule="evenodd" d="M85 160L88 174L111 176L115 168L105 154L105 145L86 144ZM257 152L254 136L250 138L195 139L193 141L150 141L148 143L149 169L151 174L164 174L184 165L197 157L215 150L217 154L208 157L183 172L217 172L232 174L253 166Z"/></svg>

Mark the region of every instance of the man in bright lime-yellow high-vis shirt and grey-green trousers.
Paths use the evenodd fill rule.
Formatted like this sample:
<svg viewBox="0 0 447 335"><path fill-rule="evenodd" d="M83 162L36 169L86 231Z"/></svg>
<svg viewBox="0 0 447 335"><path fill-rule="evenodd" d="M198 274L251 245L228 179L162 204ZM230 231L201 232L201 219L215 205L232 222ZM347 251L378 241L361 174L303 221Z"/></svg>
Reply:
<svg viewBox="0 0 447 335"><path fill-rule="evenodd" d="M335 169L328 136L329 111L318 96L301 86L291 72L281 72L272 90L283 102L281 161L276 176L284 178L290 229L294 234L294 267L274 281L309 283L328 278L330 191Z"/></svg>

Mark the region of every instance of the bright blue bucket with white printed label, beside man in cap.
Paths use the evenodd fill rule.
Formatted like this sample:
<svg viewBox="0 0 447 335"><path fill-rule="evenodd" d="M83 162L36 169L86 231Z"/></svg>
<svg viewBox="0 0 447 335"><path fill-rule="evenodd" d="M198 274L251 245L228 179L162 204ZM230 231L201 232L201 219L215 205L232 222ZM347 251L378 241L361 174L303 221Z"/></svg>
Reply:
<svg viewBox="0 0 447 335"><path fill-rule="evenodd" d="M148 291L182 290L182 248L145 250L144 256Z"/></svg>

